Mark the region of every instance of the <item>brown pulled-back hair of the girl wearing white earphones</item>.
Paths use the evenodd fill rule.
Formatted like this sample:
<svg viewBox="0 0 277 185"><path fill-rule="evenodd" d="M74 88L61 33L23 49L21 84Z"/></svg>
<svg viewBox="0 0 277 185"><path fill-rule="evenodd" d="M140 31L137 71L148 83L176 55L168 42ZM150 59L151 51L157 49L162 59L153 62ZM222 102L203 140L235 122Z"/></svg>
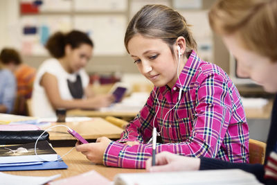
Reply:
<svg viewBox="0 0 277 185"><path fill-rule="evenodd" d="M197 50L197 44L188 28L186 19L179 12L163 5L145 5L134 15L125 33L125 48L132 37L141 34L144 37L158 38L166 42L172 53L172 45L183 36L186 39L186 54Z"/></svg>

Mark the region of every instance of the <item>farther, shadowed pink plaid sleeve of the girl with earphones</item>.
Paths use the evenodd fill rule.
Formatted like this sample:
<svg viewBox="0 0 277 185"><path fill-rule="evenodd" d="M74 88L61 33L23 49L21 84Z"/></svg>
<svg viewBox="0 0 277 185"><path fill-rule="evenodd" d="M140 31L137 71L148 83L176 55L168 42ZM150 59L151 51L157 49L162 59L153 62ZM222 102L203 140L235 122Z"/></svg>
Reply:
<svg viewBox="0 0 277 185"><path fill-rule="evenodd" d="M153 108L154 90L152 90L147 102L136 118L127 125L118 142L139 141L143 143L143 141L145 142L150 139L153 129L152 119L155 115L155 109Z"/></svg>

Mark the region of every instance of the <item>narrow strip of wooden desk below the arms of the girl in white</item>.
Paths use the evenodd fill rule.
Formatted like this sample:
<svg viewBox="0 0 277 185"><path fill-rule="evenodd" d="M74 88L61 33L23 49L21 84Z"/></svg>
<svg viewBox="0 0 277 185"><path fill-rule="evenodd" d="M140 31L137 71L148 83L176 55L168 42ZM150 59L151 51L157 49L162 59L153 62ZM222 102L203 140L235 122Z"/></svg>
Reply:
<svg viewBox="0 0 277 185"><path fill-rule="evenodd" d="M101 112L97 110L82 110L82 109L71 109L66 112L66 115L68 116L87 116L87 117L102 117L105 118L107 116L114 116L114 117L120 117L123 118L126 121L132 120L136 114L139 112Z"/></svg>

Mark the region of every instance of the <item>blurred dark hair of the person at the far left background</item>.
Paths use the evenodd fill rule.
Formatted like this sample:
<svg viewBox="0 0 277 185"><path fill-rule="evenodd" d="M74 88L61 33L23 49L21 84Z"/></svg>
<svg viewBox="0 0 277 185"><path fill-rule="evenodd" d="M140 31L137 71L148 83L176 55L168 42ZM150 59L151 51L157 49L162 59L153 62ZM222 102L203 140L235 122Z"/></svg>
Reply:
<svg viewBox="0 0 277 185"><path fill-rule="evenodd" d="M15 49L4 48L0 53L0 60L2 64L16 64L22 63L19 53Z"/></svg>

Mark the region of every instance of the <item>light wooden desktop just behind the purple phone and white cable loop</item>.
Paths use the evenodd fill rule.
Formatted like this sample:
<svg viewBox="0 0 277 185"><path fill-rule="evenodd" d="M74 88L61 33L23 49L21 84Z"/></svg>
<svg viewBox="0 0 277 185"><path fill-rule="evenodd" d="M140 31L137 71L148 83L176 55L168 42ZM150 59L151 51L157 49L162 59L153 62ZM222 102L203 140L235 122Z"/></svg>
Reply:
<svg viewBox="0 0 277 185"><path fill-rule="evenodd" d="M69 123L51 123L46 127L41 127L46 130L53 125L66 125L78 132L84 139L95 140L100 136L107 136L109 139L119 139L123 129L105 121L103 118L92 118L91 121L69 122ZM49 139L53 142L53 146L75 146L75 139L71 134L66 132L66 127L53 127L49 132ZM56 142L55 142L56 141ZM66 141L69 141L65 144ZM73 141L73 142L71 142ZM64 145L63 145L64 144Z"/></svg>

